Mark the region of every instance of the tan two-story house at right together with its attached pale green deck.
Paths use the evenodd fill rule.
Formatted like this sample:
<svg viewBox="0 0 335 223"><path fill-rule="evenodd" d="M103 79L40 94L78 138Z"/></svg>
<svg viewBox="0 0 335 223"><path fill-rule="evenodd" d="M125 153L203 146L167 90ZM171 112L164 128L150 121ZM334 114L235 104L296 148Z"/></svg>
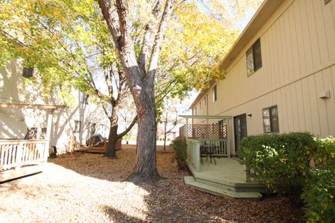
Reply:
<svg viewBox="0 0 335 223"><path fill-rule="evenodd" d="M179 132L193 175L185 183L219 196L258 199L264 185L234 158L242 138L335 135L335 0L265 0L221 70L225 79L212 79L193 101L192 115L182 116L186 125Z"/></svg>

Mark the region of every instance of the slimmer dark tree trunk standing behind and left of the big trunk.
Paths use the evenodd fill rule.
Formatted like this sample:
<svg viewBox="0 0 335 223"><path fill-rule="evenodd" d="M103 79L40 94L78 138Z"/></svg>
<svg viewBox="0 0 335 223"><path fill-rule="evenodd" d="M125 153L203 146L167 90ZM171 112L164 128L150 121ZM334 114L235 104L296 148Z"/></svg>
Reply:
<svg viewBox="0 0 335 223"><path fill-rule="evenodd" d="M119 114L119 106L113 105L112 115L110 116L110 134L108 135L108 144L107 144L107 148L105 151L105 156L110 157L112 159L117 158L116 145L117 145L117 139L118 139L117 128L119 127L117 123L118 114Z"/></svg>

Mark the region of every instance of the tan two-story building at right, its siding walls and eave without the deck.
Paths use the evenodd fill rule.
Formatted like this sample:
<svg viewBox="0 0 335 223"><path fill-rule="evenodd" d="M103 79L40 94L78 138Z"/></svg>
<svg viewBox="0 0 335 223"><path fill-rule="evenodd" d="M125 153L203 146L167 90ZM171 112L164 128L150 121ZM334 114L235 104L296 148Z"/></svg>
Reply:
<svg viewBox="0 0 335 223"><path fill-rule="evenodd" d="M253 134L335 136L335 0L265 0L221 69L190 109L234 117L235 150Z"/></svg>

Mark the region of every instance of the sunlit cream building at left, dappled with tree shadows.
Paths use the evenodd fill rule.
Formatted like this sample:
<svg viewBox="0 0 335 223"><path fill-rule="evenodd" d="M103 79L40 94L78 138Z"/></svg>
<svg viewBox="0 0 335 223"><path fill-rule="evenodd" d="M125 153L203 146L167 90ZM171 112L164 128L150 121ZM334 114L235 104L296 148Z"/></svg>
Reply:
<svg viewBox="0 0 335 223"><path fill-rule="evenodd" d="M25 77L22 77L22 72ZM0 68L0 103L29 105L64 105L59 93L54 91L43 96L43 90L34 84L25 84L27 70L22 68L20 60ZM29 76L29 75L28 75ZM29 77L28 77L29 78ZM85 144L91 134L99 133L107 137L109 120L101 106L89 102L88 95L73 89L75 107L57 109L53 112L50 146L57 146L59 153L71 151L71 140ZM24 139L29 128L30 133L43 135L46 121L45 111L39 109L0 109L0 139Z"/></svg>

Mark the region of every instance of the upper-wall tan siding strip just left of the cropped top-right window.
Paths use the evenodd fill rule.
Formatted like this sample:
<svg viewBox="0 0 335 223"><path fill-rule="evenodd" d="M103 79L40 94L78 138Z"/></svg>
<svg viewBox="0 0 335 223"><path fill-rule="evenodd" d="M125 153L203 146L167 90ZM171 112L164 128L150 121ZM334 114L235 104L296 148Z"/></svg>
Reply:
<svg viewBox="0 0 335 223"><path fill-rule="evenodd" d="M316 30L318 35L318 44L320 49L321 63L329 62L329 52L327 47L327 36L325 30L325 21L323 20L322 5L321 1L313 1L314 17L316 23ZM323 2L323 5L325 3ZM334 39L335 40L335 39Z"/></svg>

